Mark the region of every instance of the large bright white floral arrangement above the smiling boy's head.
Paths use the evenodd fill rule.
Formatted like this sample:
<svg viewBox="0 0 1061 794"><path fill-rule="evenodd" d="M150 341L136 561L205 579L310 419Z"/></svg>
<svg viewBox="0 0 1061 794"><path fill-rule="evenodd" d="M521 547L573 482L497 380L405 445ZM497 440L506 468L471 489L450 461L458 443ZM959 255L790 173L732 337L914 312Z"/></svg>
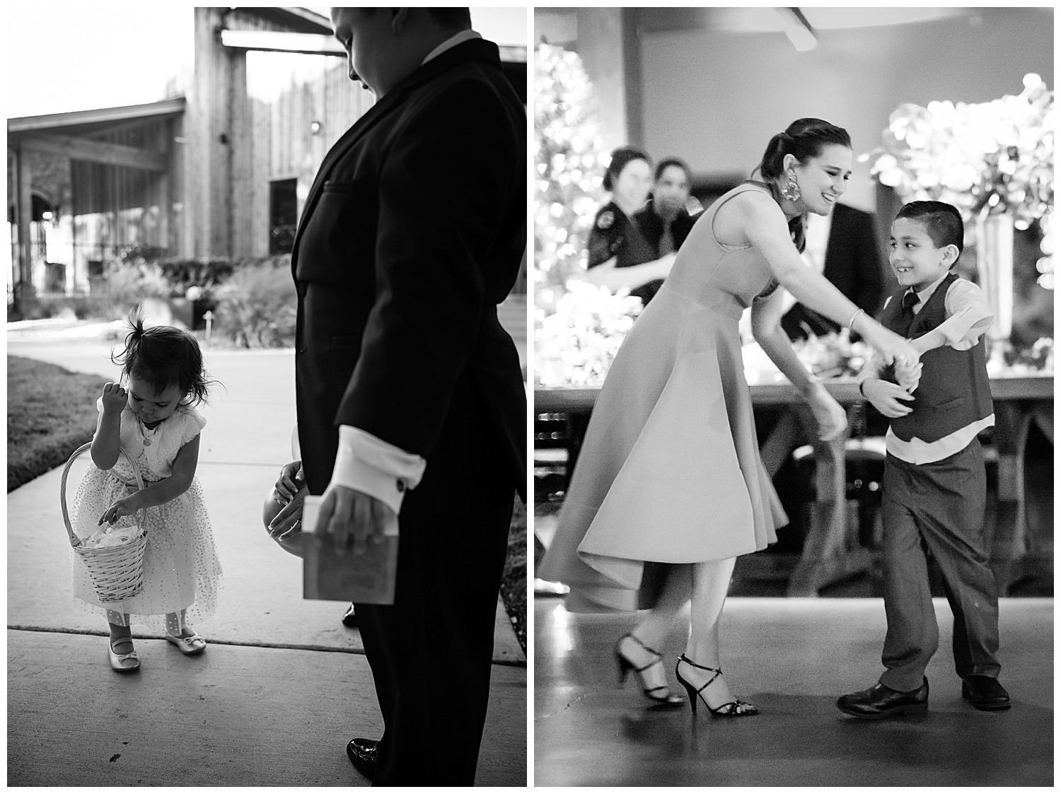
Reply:
<svg viewBox="0 0 1061 794"><path fill-rule="evenodd" d="M980 104L901 105L870 173L904 201L935 199L967 220L1011 212L1027 229L1054 204L1054 93L1038 74L1016 96Z"/></svg>

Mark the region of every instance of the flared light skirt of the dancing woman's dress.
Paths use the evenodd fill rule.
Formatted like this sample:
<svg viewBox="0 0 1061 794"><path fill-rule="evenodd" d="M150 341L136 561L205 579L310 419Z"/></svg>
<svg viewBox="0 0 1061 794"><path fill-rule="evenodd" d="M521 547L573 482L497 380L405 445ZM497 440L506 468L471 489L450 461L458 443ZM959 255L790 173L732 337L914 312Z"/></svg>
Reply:
<svg viewBox="0 0 1061 794"><path fill-rule="evenodd" d="M569 608L650 606L646 563L747 554L787 523L759 455L743 308L665 282L624 339L539 572L571 587Z"/></svg>

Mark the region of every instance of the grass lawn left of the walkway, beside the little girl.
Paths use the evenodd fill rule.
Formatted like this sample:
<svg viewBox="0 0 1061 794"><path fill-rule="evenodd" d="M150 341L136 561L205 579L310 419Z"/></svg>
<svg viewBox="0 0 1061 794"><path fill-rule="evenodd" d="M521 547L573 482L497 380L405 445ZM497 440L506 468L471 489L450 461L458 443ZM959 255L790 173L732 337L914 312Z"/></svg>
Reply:
<svg viewBox="0 0 1061 794"><path fill-rule="evenodd" d="M7 356L7 491L66 462L92 440L104 378Z"/></svg>

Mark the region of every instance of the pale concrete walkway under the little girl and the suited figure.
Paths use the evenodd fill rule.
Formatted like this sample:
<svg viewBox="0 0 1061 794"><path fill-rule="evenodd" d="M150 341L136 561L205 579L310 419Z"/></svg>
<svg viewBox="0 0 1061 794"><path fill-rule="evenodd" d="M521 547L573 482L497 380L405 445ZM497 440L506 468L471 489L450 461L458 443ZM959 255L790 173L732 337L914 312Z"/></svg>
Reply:
<svg viewBox="0 0 1061 794"><path fill-rule="evenodd" d="M20 328L7 352L117 380L104 330ZM224 388L204 410L197 476L225 578L194 627L202 656L134 621L142 668L114 673L106 625L73 605L59 470L7 494L10 786L367 784L345 753L382 730L361 637L340 622L346 604L302 600L300 560L261 525L289 459L294 356L208 350L206 364ZM526 659L500 601L494 663L476 783L524 786Z"/></svg>

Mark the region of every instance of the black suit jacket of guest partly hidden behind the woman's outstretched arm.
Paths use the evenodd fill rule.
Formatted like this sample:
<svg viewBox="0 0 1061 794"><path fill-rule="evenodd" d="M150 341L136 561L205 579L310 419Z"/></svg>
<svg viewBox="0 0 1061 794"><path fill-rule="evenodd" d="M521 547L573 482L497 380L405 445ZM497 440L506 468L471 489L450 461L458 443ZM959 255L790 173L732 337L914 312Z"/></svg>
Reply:
<svg viewBox="0 0 1061 794"><path fill-rule="evenodd" d="M872 213L842 204L833 208L823 275L859 308L865 308L866 314L876 316L884 292L884 276ZM781 327L789 339L806 338L804 324L818 336L840 328L802 303L797 303L781 318Z"/></svg>

